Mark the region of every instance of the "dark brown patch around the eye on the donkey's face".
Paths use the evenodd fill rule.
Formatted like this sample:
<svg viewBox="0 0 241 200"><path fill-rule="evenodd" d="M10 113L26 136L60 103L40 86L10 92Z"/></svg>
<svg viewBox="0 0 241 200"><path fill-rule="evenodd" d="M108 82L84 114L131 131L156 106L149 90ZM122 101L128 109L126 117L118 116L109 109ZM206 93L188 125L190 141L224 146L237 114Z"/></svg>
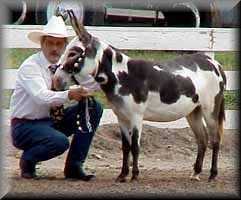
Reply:
<svg viewBox="0 0 241 200"><path fill-rule="evenodd" d="M83 59L83 50L78 46L73 46L69 49L63 68L65 71L72 72L75 70L75 63L80 65ZM78 68L78 67L77 67Z"/></svg>

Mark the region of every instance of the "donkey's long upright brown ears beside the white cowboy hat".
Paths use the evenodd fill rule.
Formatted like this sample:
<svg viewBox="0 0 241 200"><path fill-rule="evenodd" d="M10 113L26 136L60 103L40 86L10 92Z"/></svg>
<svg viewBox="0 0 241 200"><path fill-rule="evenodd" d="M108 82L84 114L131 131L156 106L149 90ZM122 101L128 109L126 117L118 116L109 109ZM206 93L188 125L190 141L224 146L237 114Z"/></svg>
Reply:
<svg viewBox="0 0 241 200"><path fill-rule="evenodd" d="M91 35L87 32L85 27L78 22L73 10L67 10L67 13L70 18L70 23L76 33L76 35L79 37L79 40L83 43L84 46L87 46L91 40Z"/></svg>

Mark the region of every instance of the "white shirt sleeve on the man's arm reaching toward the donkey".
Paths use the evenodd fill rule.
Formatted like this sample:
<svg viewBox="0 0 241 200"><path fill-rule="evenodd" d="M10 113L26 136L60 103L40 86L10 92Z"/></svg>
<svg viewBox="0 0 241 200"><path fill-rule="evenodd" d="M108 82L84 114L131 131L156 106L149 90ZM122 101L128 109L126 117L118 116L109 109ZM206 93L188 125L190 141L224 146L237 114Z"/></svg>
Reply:
<svg viewBox="0 0 241 200"><path fill-rule="evenodd" d="M68 90L52 91L48 89L41 69L34 63L22 66L18 71L18 79L37 104L58 106L68 100Z"/></svg>

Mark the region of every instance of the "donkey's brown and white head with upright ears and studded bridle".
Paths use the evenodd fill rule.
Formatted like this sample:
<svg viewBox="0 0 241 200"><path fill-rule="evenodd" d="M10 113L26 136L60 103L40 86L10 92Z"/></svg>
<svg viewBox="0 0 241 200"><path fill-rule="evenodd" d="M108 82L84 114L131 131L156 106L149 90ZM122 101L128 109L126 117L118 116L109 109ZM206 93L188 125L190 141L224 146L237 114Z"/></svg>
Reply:
<svg viewBox="0 0 241 200"><path fill-rule="evenodd" d="M107 44L87 32L72 10L66 12L77 36L68 44L59 60L62 67L57 69L54 77L54 87L57 90L67 86L73 76L75 79L88 75L96 78L104 51L108 48Z"/></svg>

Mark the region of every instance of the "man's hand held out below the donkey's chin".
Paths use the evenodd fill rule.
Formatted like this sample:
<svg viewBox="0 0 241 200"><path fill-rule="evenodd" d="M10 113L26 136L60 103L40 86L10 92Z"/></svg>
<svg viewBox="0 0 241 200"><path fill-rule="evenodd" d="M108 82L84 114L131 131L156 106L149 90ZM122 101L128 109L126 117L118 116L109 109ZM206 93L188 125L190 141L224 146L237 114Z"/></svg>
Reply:
<svg viewBox="0 0 241 200"><path fill-rule="evenodd" d="M70 100L80 101L83 97L91 96L91 92L82 86L72 86L69 89L68 97Z"/></svg>

